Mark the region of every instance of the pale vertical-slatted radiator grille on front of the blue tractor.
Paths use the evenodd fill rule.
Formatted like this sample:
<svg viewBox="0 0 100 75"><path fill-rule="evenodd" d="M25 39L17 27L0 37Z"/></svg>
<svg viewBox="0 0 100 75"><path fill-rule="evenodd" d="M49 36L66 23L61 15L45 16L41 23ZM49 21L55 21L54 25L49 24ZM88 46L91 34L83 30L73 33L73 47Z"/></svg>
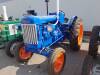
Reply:
<svg viewBox="0 0 100 75"><path fill-rule="evenodd" d="M37 30L35 24L23 24L23 39L26 44L38 44Z"/></svg>

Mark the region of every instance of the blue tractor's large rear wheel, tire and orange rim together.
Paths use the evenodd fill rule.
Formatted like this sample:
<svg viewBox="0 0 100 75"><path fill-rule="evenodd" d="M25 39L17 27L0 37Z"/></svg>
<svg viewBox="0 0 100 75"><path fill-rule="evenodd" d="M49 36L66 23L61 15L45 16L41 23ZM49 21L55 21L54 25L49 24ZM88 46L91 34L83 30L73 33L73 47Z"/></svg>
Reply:
<svg viewBox="0 0 100 75"><path fill-rule="evenodd" d="M81 19L77 18L71 30L70 48L79 51L83 40L83 24Z"/></svg>

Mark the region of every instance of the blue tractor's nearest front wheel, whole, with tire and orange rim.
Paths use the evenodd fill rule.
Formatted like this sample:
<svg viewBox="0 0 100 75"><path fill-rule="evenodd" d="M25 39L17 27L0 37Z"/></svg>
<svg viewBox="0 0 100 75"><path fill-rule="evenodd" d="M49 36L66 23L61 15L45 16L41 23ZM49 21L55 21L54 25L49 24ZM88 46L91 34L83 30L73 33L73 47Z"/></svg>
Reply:
<svg viewBox="0 0 100 75"><path fill-rule="evenodd" d="M60 75L65 65L65 50L61 47L54 49L49 59L49 75Z"/></svg>

